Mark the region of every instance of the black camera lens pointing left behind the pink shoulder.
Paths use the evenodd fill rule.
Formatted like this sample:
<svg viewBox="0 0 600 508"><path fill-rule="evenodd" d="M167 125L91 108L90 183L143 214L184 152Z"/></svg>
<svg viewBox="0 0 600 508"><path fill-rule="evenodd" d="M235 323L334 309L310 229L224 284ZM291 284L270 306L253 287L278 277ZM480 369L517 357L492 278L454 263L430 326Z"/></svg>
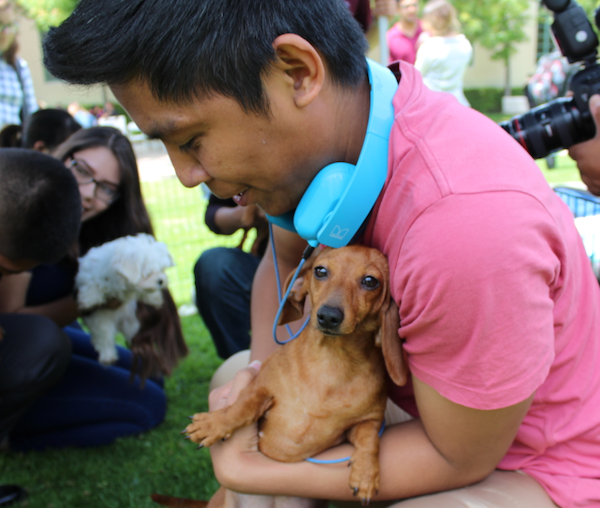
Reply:
<svg viewBox="0 0 600 508"><path fill-rule="evenodd" d="M500 126L515 138L534 159L568 148L583 138L581 115L573 99L555 99Z"/></svg>

